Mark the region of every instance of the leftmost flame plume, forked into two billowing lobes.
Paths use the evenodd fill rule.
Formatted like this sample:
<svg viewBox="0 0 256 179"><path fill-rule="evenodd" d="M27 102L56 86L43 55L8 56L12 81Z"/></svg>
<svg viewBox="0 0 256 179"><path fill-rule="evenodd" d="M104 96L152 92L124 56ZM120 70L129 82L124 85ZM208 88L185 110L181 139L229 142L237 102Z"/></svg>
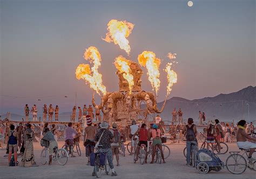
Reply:
<svg viewBox="0 0 256 179"><path fill-rule="evenodd" d="M93 67L90 69L88 64L80 64L76 69L77 79L80 80L82 78L97 94L101 95L100 93L102 93L105 95L106 87L102 82L102 74L98 72L100 61L102 61L98 49L92 46L87 48L84 52L84 59L90 60L90 63L93 63Z"/></svg>

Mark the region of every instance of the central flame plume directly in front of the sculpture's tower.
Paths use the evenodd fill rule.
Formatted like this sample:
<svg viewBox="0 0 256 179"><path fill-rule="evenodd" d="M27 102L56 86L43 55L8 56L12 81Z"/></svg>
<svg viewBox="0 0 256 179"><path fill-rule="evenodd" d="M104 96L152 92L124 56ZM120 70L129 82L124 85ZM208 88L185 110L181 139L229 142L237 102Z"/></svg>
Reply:
<svg viewBox="0 0 256 179"><path fill-rule="evenodd" d="M131 94L134 81L133 81L133 75L131 74L130 65L131 65L131 62L125 59L122 55L118 56L114 61L114 66L116 66L116 68L118 69L118 71L120 71L120 73L123 73L123 77L125 78L125 80L127 80L129 84L130 94Z"/></svg>

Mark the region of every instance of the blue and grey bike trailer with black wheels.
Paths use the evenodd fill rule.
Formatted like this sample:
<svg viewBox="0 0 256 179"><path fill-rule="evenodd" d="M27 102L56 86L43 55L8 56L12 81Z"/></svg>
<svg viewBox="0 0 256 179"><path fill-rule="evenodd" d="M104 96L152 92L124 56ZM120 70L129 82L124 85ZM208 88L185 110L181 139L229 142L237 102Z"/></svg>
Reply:
<svg viewBox="0 0 256 179"><path fill-rule="evenodd" d="M196 156L196 167L200 174L207 174L209 171L220 171L224 168L224 162L207 149L200 149Z"/></svg>

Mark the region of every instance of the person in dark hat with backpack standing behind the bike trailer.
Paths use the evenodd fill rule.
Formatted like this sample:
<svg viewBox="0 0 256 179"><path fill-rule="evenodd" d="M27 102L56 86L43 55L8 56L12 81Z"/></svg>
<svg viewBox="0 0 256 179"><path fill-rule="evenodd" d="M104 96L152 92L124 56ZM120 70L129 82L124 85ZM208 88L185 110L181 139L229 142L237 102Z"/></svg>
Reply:
<svg viewBox="0 0 256 179"><path fill-rule="evenodd" d="M187 119L187 125L184 127L182 133L184 134L186 132L186 147L187 147L187 155L186 155L186 160L187 166L190 166L190 153L191 153L191 144L197 145L197 127L196 125L193 124L193 119L188 118Z"/></svg>

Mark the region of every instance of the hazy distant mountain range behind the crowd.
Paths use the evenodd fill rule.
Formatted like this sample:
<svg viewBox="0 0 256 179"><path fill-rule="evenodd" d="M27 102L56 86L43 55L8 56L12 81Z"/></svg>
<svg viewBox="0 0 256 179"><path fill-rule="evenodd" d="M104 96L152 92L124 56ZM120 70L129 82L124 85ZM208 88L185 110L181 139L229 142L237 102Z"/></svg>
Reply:
<svg viewBox="0 0 256 179"><path fill-rule="evenodd" d="M163 105L163 102L158 103L159 108L161 105ZM207 120L218 118L221 121L238 121L243 118L247 121L254 121L256 120L256 87L249 86L231 94L220 94L202 99L188 100L172 97L166 101L165 109L160 116L164 120L171 120L173 108L177 108L177 110L181 108L185 120L192 117L197 121L198 111L202 111L205 112ZM72 112L62 112L59 114L59 119L69 121L71 114ZM2 115L2 119L4 118L6 118L6 114ZM22 120L22 118L24 116L11 114L11 120Z"/></svg>

